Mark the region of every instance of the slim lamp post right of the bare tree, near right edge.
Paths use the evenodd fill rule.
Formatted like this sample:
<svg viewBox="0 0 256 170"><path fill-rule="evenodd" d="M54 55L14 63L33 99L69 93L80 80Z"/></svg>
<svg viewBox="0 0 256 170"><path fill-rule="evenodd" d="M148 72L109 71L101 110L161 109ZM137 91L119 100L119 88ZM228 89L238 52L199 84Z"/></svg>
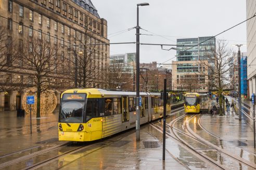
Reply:
<svg viewBox="0 0 256 170"><path fill-rule="evenodd" d="M237 62L238 62L238 116L239 120L242 120L242 101L241 101L241 54L240 54L240 45L235 45L238 47L238 53L237 53Z"/></svg>

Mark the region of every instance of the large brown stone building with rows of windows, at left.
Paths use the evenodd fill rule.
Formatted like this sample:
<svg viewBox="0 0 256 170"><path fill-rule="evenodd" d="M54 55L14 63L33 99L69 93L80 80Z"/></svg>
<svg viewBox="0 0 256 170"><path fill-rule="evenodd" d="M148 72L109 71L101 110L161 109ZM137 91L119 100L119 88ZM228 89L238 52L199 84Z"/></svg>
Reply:
<svg viewBox="0 0 256 170"><path fill-rule="evenodd" d="M78 58L79 49L85 46L73 46L86 44L98 44L92 47L94 66L97 72L103 72L109 63L109 40L107 39L107 21L100 18L97 9L90 0L5 0L0 1L0 25L8 30L8 38L16 39L23 43L31 37L45 36L47 41L60 46L61 54L67 58ZM77 47L77 48L75 48ZM75 52L72 49L75 48ZM91 46L87 46L91 49ZM76 53L77 52L77 53ZM6 56L6 60L8 61ZM12 72L0 73L1 83L12 83L19 87L31 87L33 82L23 82L24 74L22 63L12 63ZM64 60L63 62L69 62ZM57 73L57 72L56 72ZM66 81L67 77L58 73L60 81ZM101 78L95 78L88 87L104 88ZM69 80L73 87L74 80ZM54 90L59 103L60 92L65 89ZM26 89L0 91L0 111L16 110L22 108L22 98Z"/></svg>

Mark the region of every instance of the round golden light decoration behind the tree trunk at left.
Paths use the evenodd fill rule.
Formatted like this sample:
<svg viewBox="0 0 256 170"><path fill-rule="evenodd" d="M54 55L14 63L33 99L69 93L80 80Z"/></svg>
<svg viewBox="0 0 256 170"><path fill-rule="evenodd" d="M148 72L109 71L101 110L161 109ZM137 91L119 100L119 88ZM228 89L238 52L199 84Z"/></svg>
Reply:
<svg viewBox="0 0 256 170"><path fill-rule="evenodd" d="M36 92L32 92L31 90L29 92L26 92L22 98L22 105L25 110L25 112L30 113L30 105L27 105L27 96L33 95L35 103L31 105L31 112L32 114L36 114L36 102L37 102L37 96ZM57 98L54 92L51 91L45 91L41 93L41 108L40 112L41 114L50 114L52 113L56 106L57 106Z"/></svg>

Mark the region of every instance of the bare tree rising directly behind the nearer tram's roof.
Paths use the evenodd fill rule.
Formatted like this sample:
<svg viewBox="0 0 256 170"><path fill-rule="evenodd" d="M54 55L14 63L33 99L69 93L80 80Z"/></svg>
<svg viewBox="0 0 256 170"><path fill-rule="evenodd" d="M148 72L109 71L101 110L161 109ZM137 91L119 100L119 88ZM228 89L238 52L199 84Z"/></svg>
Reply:
<svg viewBox="0 0 256 170"><path fill-rule="evenodd" d="M95 29L95 30L94 30ZM101 41L95 37L96 23L91 19L86 20L83 31L76 31L74 38L76 43L70 45L73 58L69 59L71 63L70 78L74 80L77 87L89 87L96 83L104 84L103 79L103 49ZM99 33L99 30L97 30ZM101 44L101 45L94 45Z"/></svg>

